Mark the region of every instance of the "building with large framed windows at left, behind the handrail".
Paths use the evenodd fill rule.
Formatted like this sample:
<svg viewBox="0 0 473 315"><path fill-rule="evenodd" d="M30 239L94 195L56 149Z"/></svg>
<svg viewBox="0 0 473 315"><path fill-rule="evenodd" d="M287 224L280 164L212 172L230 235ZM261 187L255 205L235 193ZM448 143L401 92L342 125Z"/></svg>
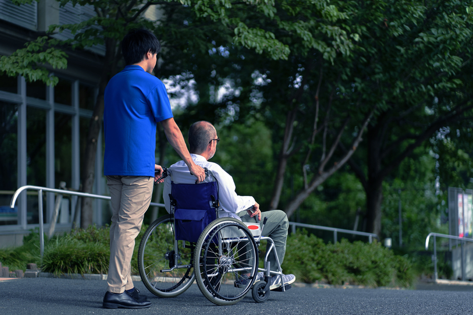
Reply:
<svg viewBox="0 0 473 315"><path fill-rule="evenodd" d="M8 56L28 41L44 35L51 24L69 24L88 19L92 7L59 7L53 0L39 0L16 6L0 0L0 56ZM70 32L55 34L59 39ZM38 226L38 195L22 193L14 209L13 193L25 185L59 188L61 182L73 190L81 188L81 156L89 120L98 92L104 48L69 51L66 69L53 70L56 86L24 77L0 75L0 247L18 246L23 236ZM96 194L105 193L102 172L102 137L96 157ZM44 194L44 221L49 223L55 195ZM80 218L76 197L64 198L56 231L71 228L74 216ZM107 222L107 202L94 203L94 222ZM47 226L46 226L47 228Z"/></svg>

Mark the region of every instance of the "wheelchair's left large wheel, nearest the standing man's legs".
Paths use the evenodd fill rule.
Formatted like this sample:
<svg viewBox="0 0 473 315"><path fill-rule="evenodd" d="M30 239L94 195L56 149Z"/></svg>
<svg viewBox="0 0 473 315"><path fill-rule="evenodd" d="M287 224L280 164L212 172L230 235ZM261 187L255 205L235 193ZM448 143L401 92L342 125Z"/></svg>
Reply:
<svg viewBox="0 0 473 315"><path fill-rule="evenodd" d="M145 287L160 297L175 297L194 281L194 246L174 237L174 217L151 223L138 249L138 269Z"/></svg>

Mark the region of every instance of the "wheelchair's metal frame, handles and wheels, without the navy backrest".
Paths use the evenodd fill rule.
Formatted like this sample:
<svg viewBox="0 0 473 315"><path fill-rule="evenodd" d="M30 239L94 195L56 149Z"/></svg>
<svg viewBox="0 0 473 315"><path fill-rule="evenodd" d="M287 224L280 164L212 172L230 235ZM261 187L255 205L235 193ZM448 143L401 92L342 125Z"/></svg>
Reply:
<svg viewBox="0 0 473 315"><path fill-rule="evenodd" d="M213 176L210 170L205 170L207 176ZM168 175L171 174L165 168L156 183ZM274 291L289 289L291 285L283 282L273 240L261 234L253 236L246 224L238 219L218 218L218 199L215 211L217 219L208 224L196 243L176 240L174 206L170 214L150 224L138 249L138 270L145 287L156 296L175 297L185 292L195 280L203 295L217 305L235 304L250 290L256 302L265 302L270 292L269 279L273 275L281 277L283 284ZM266 220L261 232L265 223ZM233 237L225 237L232 233ZM261 240L269 244L264 268L258 267ZM268 256L271 251L274 251L278 272L270 271ZM251 257L245 259L248 253ZM263 272L263 280L256 281L258 271ZM247 280L242 280L240 274L243 272L250 274Z"/></svg>

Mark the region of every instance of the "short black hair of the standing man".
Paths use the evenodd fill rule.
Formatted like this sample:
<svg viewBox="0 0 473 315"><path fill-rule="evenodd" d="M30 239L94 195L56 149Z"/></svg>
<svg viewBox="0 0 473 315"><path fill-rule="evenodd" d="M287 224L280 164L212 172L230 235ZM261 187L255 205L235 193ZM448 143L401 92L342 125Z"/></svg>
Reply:
<svg viewBox="0 0 473 315"><path fill-rule="evenodd" d="M160 50L160 41L146 28L134 28L122 40L122 54L127 66L142 61L149 51L157 54Z"/></svg>

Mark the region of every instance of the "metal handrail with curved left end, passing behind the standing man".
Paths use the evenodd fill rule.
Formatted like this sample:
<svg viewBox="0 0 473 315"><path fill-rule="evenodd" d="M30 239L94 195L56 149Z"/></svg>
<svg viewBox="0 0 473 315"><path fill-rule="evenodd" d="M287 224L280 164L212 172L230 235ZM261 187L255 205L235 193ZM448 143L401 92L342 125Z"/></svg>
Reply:
<svg viewBox="0 0 473 315"><path fill-rule="evenodd" d="M54 189L54 188L47 188L47 187L41 187L41 186L26 185L26 186L22 186L18 188L15 191L15 193L13 194L12 200L10 202L10 208L15 207L16 200L18 199L18 196L20 195L20 193L28 189L36 190L38 192L38 216L39 216L39 221L40 221L40 255L42 259L43 259L43 255L45 251L44 222L43 222L44 221L43 219L43 191L50 192L50 193L58 193L62 195L81 196L81 197L104 199L104 200L111 199L110 196L94 195L94 194L74 192L74 191L63 190L63 189ZM157 206L157 207L164 207L163 203L151 202L149 205Z"/></svg>

